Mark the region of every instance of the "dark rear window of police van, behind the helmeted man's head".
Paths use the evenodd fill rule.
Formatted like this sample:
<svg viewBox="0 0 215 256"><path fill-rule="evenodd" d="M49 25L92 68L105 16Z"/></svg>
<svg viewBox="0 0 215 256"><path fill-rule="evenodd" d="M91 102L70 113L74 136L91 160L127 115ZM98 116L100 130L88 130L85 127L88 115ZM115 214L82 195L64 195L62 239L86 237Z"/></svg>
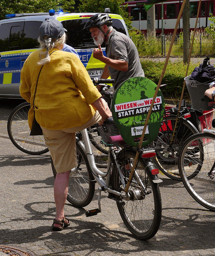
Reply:
<svg viewBox="0 0 215 256"><path fill-rule="evenodd" d="M67 30L67 45L76 49L79 48L95 48L98 47L94 44L93 38L89 30L83 30L85 23L88 19L74 19L62 21L63 27ZM121 21L113 19L112 27L117 31L126 34Z"/></svg>

